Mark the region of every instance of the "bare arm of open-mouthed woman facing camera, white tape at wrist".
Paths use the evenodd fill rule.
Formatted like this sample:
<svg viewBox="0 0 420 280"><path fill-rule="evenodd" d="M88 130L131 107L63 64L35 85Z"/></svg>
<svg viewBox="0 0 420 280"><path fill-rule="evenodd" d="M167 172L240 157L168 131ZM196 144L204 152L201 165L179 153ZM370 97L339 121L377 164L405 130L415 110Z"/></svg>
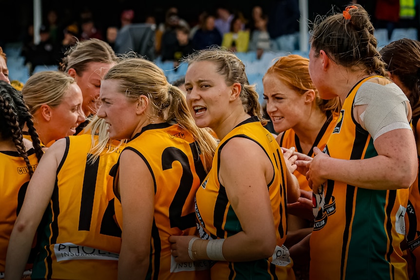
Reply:
<svg viewBox="0 0 420 280"><path fill-rule="evenodd" d="M242 228L224 240L222 253L227 261L254 261L268 258L274 253L277 229L267 188L272 176L272 163L255 142L235 137L223 147L219 180L226 189L230 205ZM191 261L187 248L192 238L170 237L175 261ZM196 246L195 242L199 245ZM195 242L194 246L199 248L199 259L209 260L206 253L209 241Z"/></svg>

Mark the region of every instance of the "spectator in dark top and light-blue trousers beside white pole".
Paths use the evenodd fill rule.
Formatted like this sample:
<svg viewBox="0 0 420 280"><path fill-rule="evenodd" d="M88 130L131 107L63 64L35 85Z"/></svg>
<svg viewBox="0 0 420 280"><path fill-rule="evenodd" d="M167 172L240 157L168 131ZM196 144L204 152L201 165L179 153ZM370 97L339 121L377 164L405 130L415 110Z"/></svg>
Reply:
<svg viewBox="0 0 420 280"><path fill-rule="evenodd" d="M267 31L279 51L299 49L299 0L275 0L269 5Z"/></svg>

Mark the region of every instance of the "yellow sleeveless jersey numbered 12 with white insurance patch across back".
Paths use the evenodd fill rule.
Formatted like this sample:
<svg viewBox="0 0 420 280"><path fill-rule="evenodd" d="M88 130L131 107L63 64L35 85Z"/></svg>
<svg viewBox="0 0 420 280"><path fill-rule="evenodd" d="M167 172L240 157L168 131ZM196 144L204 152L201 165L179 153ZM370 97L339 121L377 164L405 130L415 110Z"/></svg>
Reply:
<svg viewBox="0 0 420 280"><path fill-rule="evenodd" d="M87 163L91 135L68 136L51 202L38 231L33 279L117 279L121 231L115 223L111 168L122 148Z"/></svg>

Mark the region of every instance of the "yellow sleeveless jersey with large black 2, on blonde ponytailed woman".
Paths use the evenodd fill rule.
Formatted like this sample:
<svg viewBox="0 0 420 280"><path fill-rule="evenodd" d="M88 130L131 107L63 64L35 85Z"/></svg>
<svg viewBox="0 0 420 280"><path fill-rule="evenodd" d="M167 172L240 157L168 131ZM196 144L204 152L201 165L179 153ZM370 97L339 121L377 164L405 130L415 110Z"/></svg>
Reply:
<svg viewBox="0 0 420 280"><path fill-rule="evenodd" d="M124 149L134 151L144 160L154 181L150 266L146 279L208 279L209 261L175 262L168 240L171 235L197 235L194 197L206 171L191 133L179 125L150 124ZM115 204L115 214L122 228L120 201Z"/></svg>

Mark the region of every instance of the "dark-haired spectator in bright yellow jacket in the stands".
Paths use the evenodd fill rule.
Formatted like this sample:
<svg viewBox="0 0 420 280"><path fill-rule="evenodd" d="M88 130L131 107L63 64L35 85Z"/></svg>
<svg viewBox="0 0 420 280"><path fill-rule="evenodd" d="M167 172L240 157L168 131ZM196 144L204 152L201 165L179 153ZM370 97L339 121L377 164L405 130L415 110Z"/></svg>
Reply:
<svg viewBox="0 0 420 280"><path fill-rule="evenodd" d="M232 52L248 52L249 30L242 30L243 20L235 16L230 22L230 31L223 35L222 46Z"/></svg>

